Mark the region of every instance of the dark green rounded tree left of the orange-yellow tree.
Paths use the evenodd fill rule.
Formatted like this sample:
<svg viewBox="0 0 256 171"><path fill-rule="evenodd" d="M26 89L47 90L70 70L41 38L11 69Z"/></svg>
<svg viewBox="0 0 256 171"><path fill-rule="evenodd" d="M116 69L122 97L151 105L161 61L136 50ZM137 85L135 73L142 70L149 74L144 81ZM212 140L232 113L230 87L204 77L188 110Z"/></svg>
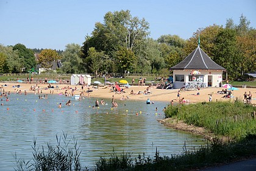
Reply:
<svg viewBox="0 0 256 171"><path fill-rule="evenodd" d="M23 72L28 72L30 69L35 68L36 61L34 52L31 49L27 49L23 44L15 44L13 51L18 50L19 58L21 59Z"/></svg>

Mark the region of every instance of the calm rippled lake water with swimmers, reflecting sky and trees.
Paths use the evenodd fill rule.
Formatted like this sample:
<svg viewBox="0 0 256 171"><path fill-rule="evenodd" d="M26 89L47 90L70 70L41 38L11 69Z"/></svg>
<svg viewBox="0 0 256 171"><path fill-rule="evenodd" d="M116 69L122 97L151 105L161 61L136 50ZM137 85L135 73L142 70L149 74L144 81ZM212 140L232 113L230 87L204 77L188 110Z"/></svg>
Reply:
<svg viewBox="0 0 256 171"><path fill-rule="evenodd" d="M78 101L51 94L48 99L38 99L34 94L10 94L9 102L2 99L1 170L14 170L15 153L26 161L32 159L34 138L37 138L37 145L46 147L48 142L56 144L55 135L60 136L63 131L68 134L68 140L76 136L82 150L82 166L90 168L100 156L108 156L113 149L118 154L131 152L138 156L145 152L154 156L157 147L160 155L170 156L182 153L185 142L190 149L205 144L201 136L173 130L157 122L164 117L165 102L146 105L146 101L116 100L118 108L111 110L111 98L104 99L108 105L99 108L92 108L96 100L93 97ZM65 106L69 99L71 106ZM62 108L57 107L58 103L64 104Z"/></svg>

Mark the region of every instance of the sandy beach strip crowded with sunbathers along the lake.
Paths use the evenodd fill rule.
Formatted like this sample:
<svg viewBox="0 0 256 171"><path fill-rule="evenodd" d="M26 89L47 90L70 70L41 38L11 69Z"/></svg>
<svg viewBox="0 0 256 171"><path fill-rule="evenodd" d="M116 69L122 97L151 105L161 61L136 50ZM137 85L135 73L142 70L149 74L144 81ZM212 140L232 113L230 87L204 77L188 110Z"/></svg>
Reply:
<svg viewBox="0 0 256 171"><path fill-rule="evenodd" d="M7 86L4 86L4 85ZM38 94L38 86L39 86L39 95L45 95L45 94L60 94L64 93L67 91L68 93L71 93L71 88L76 90L74 91L74 94L80 94L82 92L82 86L73 86L73 85L59 85L59 84L51 84L51 86L54 86L54 88L47 89L49 83L46 84L30 84L30 83L1 83L2 89L1 91L14 93L15 89L16 91L20 91L21 93L24 94L24 91L26 90L27 93L35 93ZM20 88L15 87L17 85L20 85ZM31 86L36 86L36 91L31 91L30 87ZM58 87L58 88L57 88ZM149 88L149 91L151 91L150 94L145 95L145 94L138 94L139 91L144 92L148 86L130 86L130 88L123 88L124 92L121 94L115 94L115 92L110 92L110 86L104 86L104 87L98 87L94 88L94 86L85 86L83 91L85 97L88 97L88 93L86 92L90 88L92 92L90 92L89 96L90 97L95 97L98 99L111 99L112 95L115 95L115 99L121 99L122 96L125 98L129 98L127 100L143 100L146 102L146 100L149 98L151 102L154 101L162 101L162 102L167 102L170 103L171 100L174 101L174 103L179 102L179 97L177 97L177 92L179 89L156 89L155 87ZM212 94L212 100L235 100L236 97L238 99L243 100L243 94L244 92L249 93L251 91L252 93L252 103L256 103L256 89L255 88L239 88L238 90L233 91L233 98L231 99L226 99L222 98L224 95L223 94L217 94L218 91L221 91L223 88L204 88L200 90L194 90L194 91L180 91L180 98L182 99L183 97L185 100L188 100L190 103L196 103L196 102L208 102L208 99L210 97L210 94ZM135 94L130 94L130 91L132 91ZM199 95L197 95L197 92L199 92Z"/></svg>

